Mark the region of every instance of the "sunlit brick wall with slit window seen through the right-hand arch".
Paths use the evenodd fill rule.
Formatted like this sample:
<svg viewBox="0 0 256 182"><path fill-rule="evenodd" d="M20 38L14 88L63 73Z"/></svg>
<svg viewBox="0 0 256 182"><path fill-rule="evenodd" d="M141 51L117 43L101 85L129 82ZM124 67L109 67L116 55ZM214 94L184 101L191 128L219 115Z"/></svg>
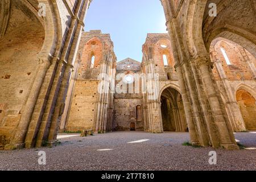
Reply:
<svg viewBox="0 0 256 182"><path fill-rule="evenodd" d="M236 132L245 131L245 123L233 90L237 90L235 85L245 81L254 85L255 58L239 44L219 37L210 45L210 59L214 63L213 76L218 89L225 95L224 105L232 129Z"/></svg>

